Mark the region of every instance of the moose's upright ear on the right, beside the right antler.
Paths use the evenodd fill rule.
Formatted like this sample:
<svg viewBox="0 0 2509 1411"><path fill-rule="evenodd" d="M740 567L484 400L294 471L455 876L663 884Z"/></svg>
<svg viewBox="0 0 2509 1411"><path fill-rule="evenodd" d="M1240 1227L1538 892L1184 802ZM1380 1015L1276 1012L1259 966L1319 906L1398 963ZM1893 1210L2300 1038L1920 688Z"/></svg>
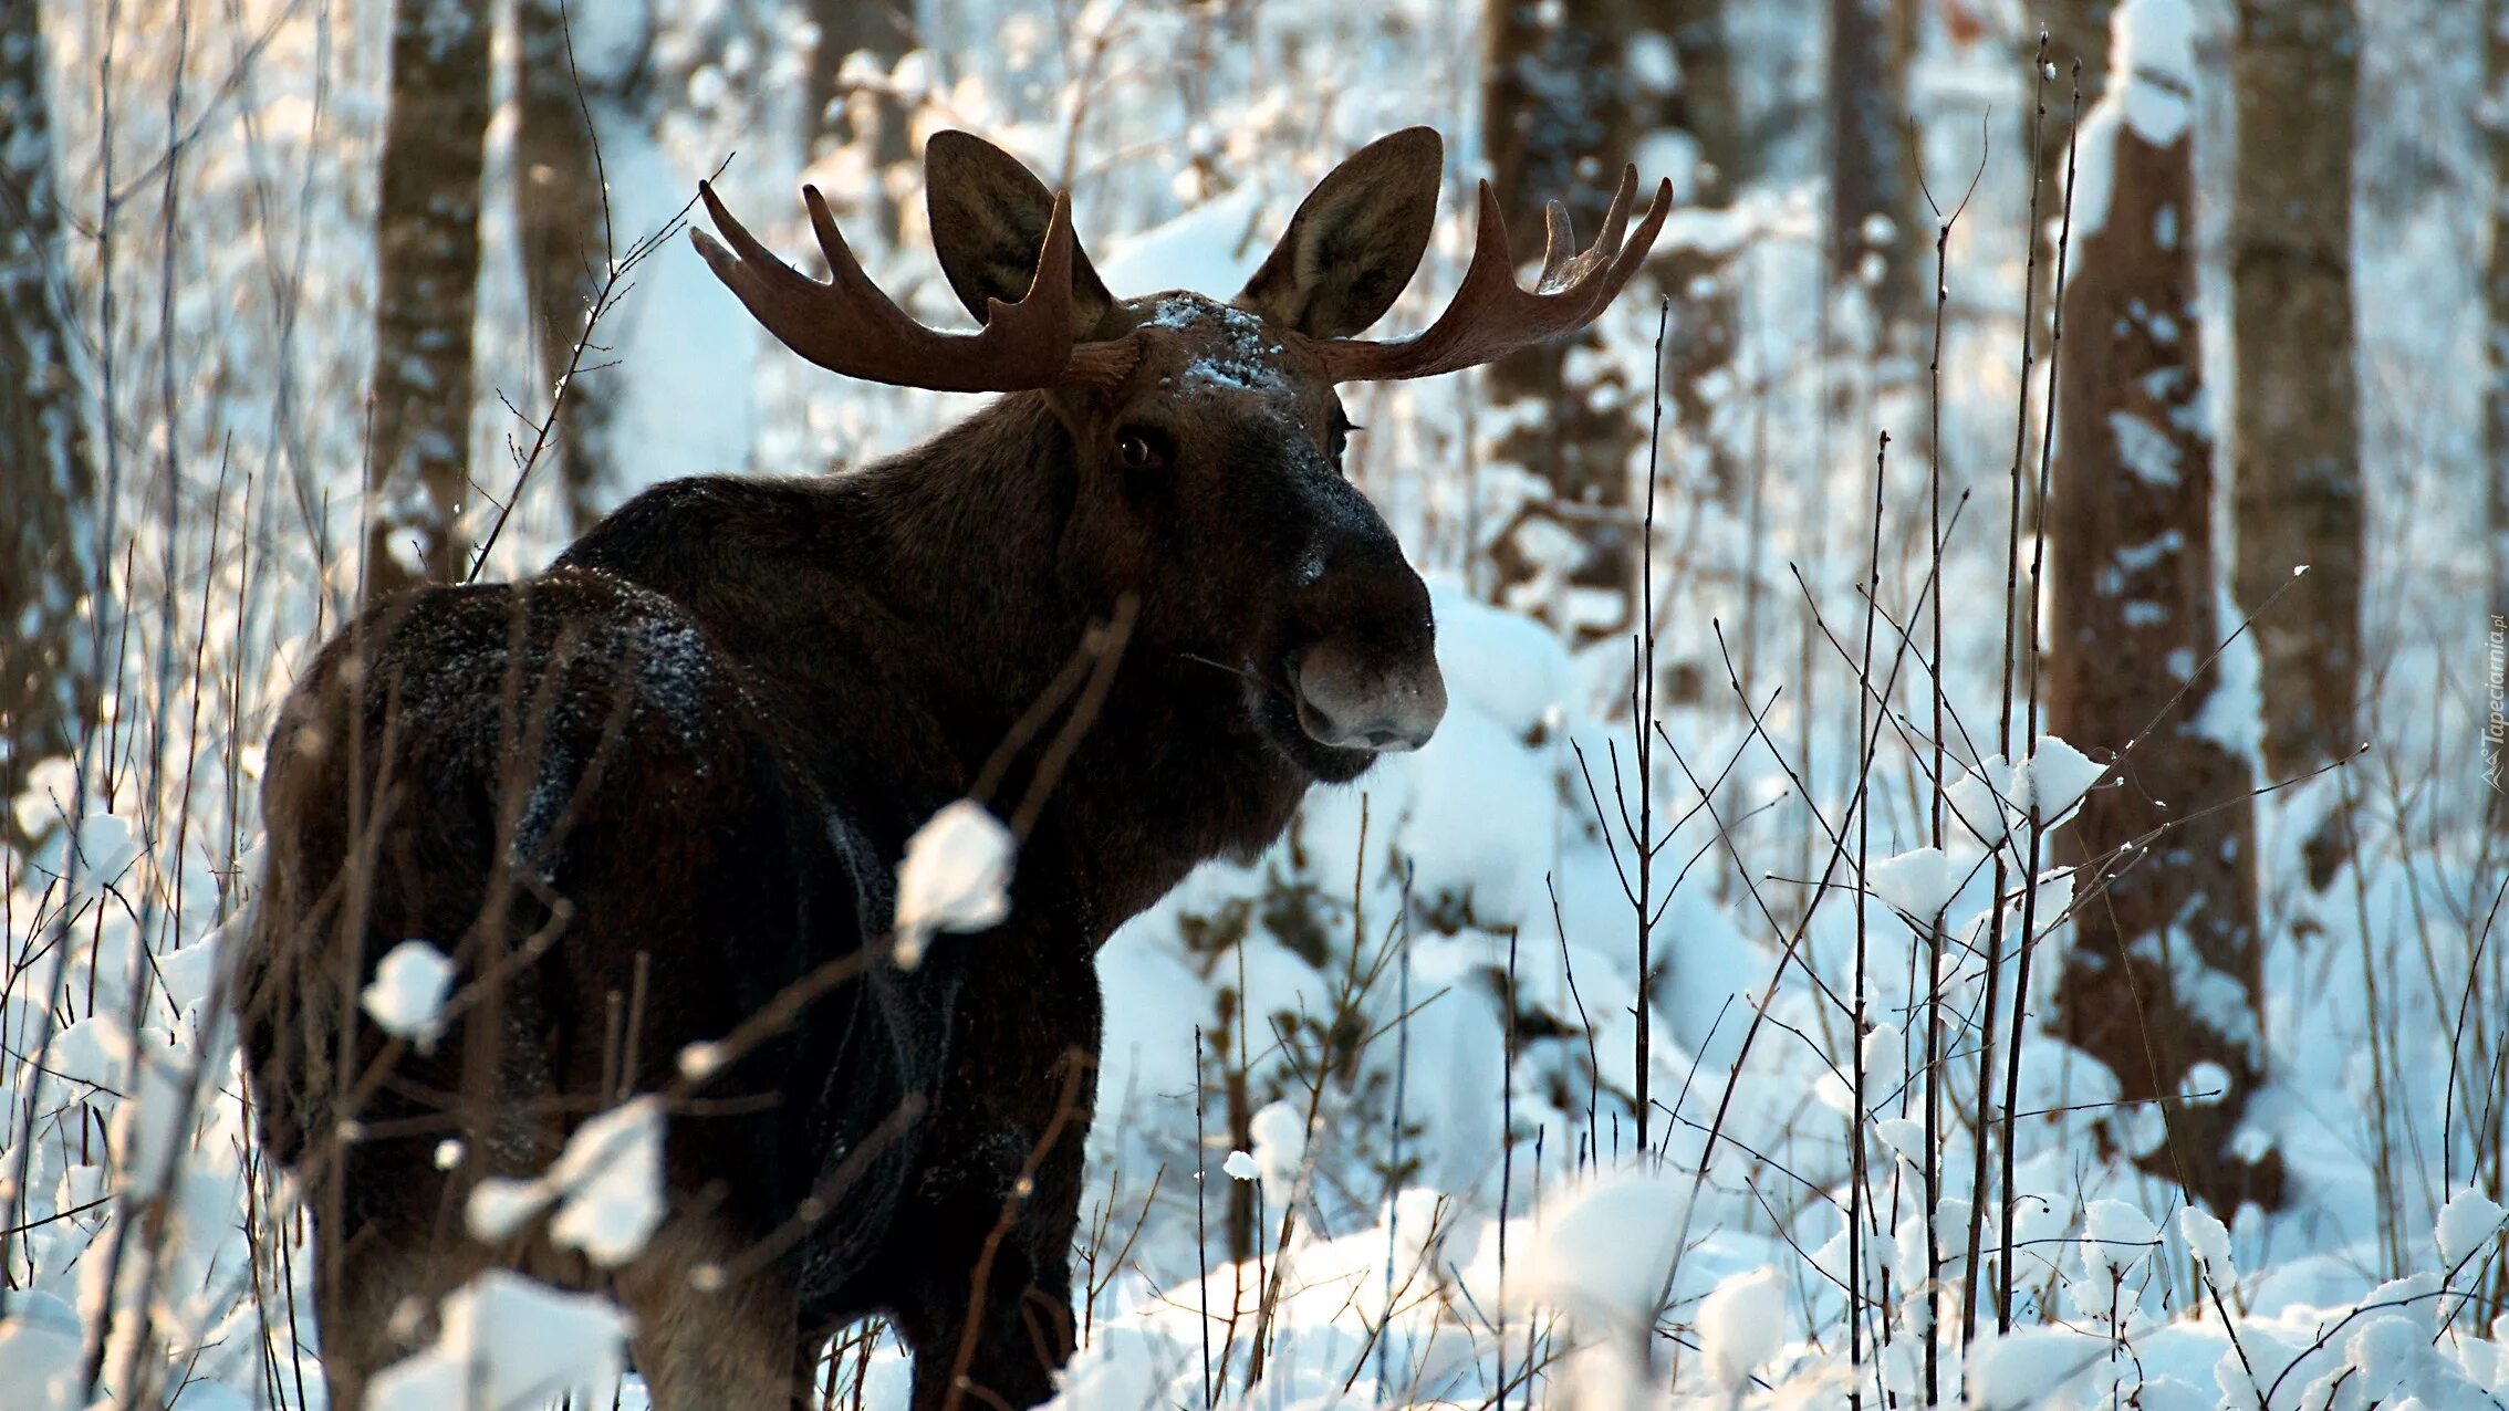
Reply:
<svg viewBox="0 0 2509 1411"><path fill-rule="evenodd" d="M1310 338L1347 338L1395 306L1438 221L1445 143L1403 128L1350 153L1290 218L1237 303Z"/></svg>

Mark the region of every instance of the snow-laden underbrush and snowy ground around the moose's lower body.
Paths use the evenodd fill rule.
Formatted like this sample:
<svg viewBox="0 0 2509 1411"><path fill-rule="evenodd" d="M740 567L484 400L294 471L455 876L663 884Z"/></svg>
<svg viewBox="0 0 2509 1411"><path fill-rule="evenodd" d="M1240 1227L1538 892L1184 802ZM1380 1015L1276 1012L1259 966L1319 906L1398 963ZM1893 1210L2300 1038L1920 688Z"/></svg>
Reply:
<svg viewBox="0 0 2509 1411"><path fill-rule="evenodd" d="M1317 794L1267 857L1199 872L1101 960L1084 1351L1061 1406L1922 1403L1929 1321L1934 1386L1972 1406L2509 1398L2496 1125L2449 1120L2489 1080L2446 1073L2466 1030L2491 1053L2501 1018L2466 1015L2451 1048L2394 980L2389 1013L2371 1005L2381 975L2421 967L2396 925L2414 867L2368 850L2371 930L2271 967L2281 1080L2248 1140L2288 1160L2288 1208L2215 1218L2138 1170L2165 1140L2158 1105L2120 1103L2115 1075L2032 1007L2017 1085L1990 1075L2012 1226L1980 1216L1972 1236L1975 1173L1990 1203L2005 1190L1977 1160L1980 1128L2002 1130L1977 1100L1990 907L2015 940L2022 905L2035 915L2035 945L2005 947L2002 992L2027 962L2050 995L2085 902L2062 870L2035 900L2017 882L1990 897L1995 847L2017 875L2030 807L2057 820L2108 772L2055 739L2022 769L1982 762L1949 789L1960 842L1872 857L1862 897L1842 850L1827 890L1784 900L1774 877L1714 867L1731 830L1658 782L1653 842L1674 862L1646 895L1641 1145L1628 739L1568 704L1576 672L1548 632L1443 589L1438 617L1453 692L1438 739ZM1759 734L1691 724L1661 742L1741 807L1784 797ZM176 865L133 810L70 807L70 789L48 767L18 799L30 832L45 812L78 822L48 830L8 902L0 1406L321 1403L301 1211L261 1163L231 1025L213 1023L253 857L191 847ZM2368 985L2331 982L2346 947ZM2429 992L2489 995L2481 952L2464 965L2449 975L2466 987L2434 970ZM364 1002L424 1035L442 977L394 967ZM1932 1088L1927 1013L1944 1015ZM657 1213L657 1128L635 1103L587 1123L547 1178L474 1200L472 1231L554 1208L597 1261L630 1256ZM1864 1293L1854 1318L1847 1288ZM602 1298L487 1278L376 1393L635 1403L625 1331ZM858 1333L828 1378L838 1403L891 1406L906 1363Z"/></svg>

